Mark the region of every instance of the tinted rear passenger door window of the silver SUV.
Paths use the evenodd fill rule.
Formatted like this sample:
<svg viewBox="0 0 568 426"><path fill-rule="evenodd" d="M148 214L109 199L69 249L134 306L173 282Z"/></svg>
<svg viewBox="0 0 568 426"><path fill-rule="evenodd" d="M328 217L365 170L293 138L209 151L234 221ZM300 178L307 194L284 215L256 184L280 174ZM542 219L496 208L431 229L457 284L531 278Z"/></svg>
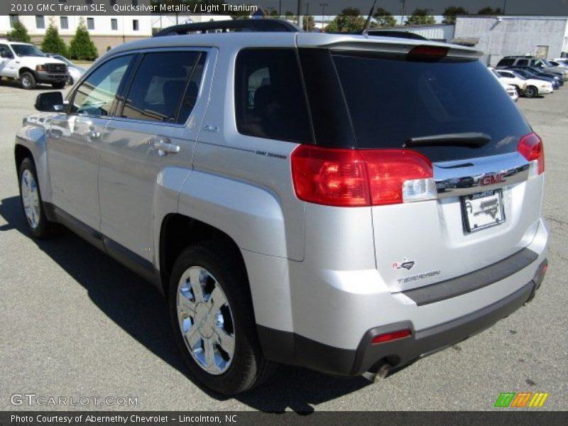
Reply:
<svg viewBox="0 0 568 426"><path fill-rule="evenodd" d="M144 55L126 94L121 116L129 119L185 123L197 102L204 52Z"/></svg>

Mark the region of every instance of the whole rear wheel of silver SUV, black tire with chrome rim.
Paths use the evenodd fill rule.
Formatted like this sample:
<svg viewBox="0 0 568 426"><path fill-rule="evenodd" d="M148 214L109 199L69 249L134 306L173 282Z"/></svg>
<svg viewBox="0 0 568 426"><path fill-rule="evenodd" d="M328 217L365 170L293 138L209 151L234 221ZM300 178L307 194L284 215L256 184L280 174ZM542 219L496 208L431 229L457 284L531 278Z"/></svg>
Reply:
<svg viewBox="0 0 568 426"><path fill-rule="evenodd" d="M271 375L275 364L258 344L245 268L226 244L207 241L180 254L169 304L182 356L205 386L234 395Z"/></svg>

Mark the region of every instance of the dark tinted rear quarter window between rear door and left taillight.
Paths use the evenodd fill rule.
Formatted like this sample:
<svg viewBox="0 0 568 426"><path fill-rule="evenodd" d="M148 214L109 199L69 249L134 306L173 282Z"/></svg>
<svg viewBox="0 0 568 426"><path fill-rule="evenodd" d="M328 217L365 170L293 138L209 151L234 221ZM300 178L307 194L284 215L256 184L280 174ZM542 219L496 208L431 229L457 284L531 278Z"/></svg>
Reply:
<svg viewBox="0 0 568 426"><path fill-rule="evenodd" d="M239 133L310 143L310 121L293 49L245 49L236 58Z"/></svg>

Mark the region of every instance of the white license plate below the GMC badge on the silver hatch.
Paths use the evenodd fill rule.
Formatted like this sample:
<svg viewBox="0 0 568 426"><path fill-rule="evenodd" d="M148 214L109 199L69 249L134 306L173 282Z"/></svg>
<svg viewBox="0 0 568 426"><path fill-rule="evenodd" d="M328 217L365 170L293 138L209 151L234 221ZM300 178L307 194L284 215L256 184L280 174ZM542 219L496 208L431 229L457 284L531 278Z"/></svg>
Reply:
<svg viewBox="0 0 568 426"><path fill-rule="evenodd" d="M500 225L505 222L503 192L491 190L461 197L461 212L467 232Z"/></svg>

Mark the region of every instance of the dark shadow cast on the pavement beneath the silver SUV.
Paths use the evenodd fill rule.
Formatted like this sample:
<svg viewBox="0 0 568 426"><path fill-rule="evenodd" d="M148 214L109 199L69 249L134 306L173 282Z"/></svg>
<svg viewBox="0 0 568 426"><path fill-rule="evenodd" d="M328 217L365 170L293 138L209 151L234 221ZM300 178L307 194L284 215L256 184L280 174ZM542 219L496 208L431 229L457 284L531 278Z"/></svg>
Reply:
<svg viewBox="0 0 568 426"><path fill-rule="evenodd" d="M0 216L8 222L0 226L0 232L16 229L29 238L19 197L0 201ZM153 285L70 231L52 240L34 241L131 337L190 378L210 397L227 399L202 388L187 373L175 345L165 299ZM336 378L305 368L280 366L268 383L235 399L256 410L280 412L290 409L308 414L314 411L313 405L358 391L369 384L361 377Z"/></svg>

